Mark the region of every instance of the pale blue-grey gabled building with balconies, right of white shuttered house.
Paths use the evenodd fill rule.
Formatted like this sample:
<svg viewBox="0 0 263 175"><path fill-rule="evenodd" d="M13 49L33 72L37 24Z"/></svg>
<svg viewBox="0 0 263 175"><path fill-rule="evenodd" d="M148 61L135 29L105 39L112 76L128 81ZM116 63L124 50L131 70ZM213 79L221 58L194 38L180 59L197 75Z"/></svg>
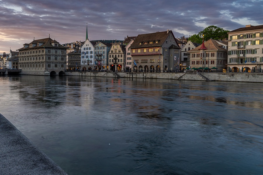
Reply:
<svg viewBox="0 0 263 175"><path fill-rule="evenodd" d="M110 51L109 43L97 42L94 46L94 69L108 70L108 53Z"/></svg>

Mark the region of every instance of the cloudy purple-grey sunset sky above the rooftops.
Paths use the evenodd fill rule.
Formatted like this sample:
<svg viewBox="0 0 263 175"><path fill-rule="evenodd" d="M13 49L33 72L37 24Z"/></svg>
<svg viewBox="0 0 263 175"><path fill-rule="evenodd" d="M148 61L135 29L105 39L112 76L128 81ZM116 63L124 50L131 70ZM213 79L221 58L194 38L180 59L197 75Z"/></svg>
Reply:
<svg viewBox="0 0 263 175"><path fill-rule="evenodd" d="M263 0L0 0L0 55L35 39L60 44L124 40L127 36L172 30L175 37L210 25L234 30L263 24Z"/></svg>

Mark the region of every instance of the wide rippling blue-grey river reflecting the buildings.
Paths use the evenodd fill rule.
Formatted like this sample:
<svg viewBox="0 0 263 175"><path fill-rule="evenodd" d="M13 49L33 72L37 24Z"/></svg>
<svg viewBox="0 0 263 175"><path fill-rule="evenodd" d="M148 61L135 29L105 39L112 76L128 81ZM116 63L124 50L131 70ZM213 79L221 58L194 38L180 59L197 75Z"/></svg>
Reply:
<svg viewBox="0 0 263 175"><path fill-rule="evenodd" d="M0 113L68 174L262 174L263 84L0 76Z"/></svg>

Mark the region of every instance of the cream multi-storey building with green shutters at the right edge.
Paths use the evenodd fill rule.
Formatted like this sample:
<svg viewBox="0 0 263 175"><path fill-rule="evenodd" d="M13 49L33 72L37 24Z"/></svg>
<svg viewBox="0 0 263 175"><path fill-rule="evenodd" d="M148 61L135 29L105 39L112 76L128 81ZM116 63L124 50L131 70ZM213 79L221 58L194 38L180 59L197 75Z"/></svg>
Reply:
<svg viewBox="0 0 263 175"><path fill-rule="evenodd" d="M228 32L228 70L259 72L263 69L263 25Z"/></svg>

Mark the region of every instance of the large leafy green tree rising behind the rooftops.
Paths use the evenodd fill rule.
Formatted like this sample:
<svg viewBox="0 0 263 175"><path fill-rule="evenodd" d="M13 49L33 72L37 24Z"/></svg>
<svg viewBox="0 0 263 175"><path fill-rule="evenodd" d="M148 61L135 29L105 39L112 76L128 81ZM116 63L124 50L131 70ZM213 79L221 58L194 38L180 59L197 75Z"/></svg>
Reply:
<svg viewBox="0 0 263 175"><path fill-rule="evenodd" d="M204 35L205 41L210 40L211 38L222 40L224 38L228 38L227 32L229 32L229 30L224 30L220 27L212 25L212 26L206 27L203 31L200 31L198 35L200 37L203 37Z"/></svg>

